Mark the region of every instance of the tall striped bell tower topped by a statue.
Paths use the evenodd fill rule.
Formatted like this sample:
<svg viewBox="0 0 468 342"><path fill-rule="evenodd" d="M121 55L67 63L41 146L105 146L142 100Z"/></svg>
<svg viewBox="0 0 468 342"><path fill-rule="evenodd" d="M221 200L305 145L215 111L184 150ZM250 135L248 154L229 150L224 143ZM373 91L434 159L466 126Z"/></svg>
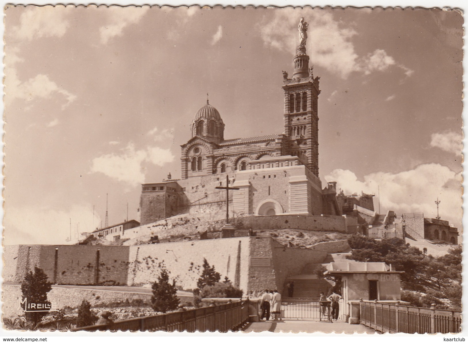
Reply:
<svg viewBox="0 0 468 342"><path fill-rule="evenodd" d="M292 79L283 71L285 94L285 136L287 151L298 156L314 175L318 166L318 95L320 77L314 78L314 66L309 68L306 53L307 22L301 18L298 26L299 45L294 56Z"/></svg>

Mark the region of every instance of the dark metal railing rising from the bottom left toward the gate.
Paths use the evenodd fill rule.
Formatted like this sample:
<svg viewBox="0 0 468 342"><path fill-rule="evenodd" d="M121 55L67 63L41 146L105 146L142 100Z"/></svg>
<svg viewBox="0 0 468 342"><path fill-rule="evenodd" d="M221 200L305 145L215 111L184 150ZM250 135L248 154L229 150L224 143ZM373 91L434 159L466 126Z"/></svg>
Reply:
<svg viewBox="0 0 468 342"><path fill-rule="evenodd" d="M154 316L132 318L118 322L88 327L76 330L122 330L122 331L235 331L247 323L249 319L249 301L227 303L218 306L208 306L187 311L163 313Z"/></svg>

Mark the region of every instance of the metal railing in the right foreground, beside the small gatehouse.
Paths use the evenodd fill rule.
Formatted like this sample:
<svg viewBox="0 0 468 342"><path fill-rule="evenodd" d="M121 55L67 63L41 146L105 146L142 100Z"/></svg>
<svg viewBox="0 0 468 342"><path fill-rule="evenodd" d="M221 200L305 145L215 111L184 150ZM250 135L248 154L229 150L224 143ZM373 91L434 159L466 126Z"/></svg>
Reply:
<svg viewBox="0 0 468 342"><path fill-rule="evenodd" d="M383 333L458 333L461 331L461 312L361 302L361 324Z"/></svg>

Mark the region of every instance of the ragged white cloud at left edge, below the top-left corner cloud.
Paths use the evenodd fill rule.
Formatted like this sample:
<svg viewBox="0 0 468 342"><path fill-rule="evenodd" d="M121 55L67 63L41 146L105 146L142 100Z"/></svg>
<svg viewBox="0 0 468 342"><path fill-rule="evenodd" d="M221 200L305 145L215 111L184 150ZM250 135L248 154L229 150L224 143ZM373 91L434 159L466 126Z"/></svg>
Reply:
<svg viewBox="0 0 468 342"><path fill-rule="evenodd" d="M37 98L50 99L53 95L60 94L63 95L66 100L66 103L62 105L63 110L76 99L76 95L60 88L55 82L49 80L47 75L39 74L26 82L13 82L13 84L15 83L17 85L16 88L6 88L6 93L9 95L10 101L14 98L18 98L29 102Z"/></svg>

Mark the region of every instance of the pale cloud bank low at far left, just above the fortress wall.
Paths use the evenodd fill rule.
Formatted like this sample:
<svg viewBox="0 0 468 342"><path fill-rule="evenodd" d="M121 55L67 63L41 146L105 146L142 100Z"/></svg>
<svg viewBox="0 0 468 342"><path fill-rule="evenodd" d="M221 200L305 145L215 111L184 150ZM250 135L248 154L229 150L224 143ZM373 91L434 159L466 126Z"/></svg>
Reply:
<svg viewBox="0 0 468 342"><path fill-rule="evenodd" d="M7 206L3 242L5 245L63 244L70 236L70 218L73 242L83 238L82 232L93 231L101 221L97 213L93 219L92 205L74 205L69 210Z"/></svg>

